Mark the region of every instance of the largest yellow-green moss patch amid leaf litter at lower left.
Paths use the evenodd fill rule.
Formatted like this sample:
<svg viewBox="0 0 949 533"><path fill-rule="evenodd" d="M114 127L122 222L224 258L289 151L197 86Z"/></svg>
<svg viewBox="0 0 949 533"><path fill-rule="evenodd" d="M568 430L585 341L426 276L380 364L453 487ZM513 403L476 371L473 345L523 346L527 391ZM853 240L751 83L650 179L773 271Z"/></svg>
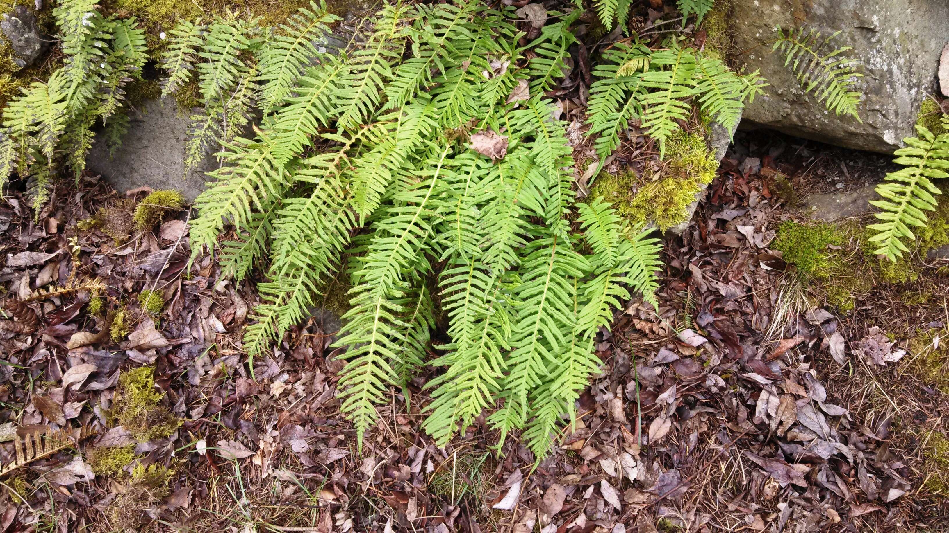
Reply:
<svg viewBox="0 0 949 533"><path fill-rule="evenodd" d="M163 438L175 432L181 421L160 404L165 394L155 388L154 370L142 366L119 376L110 418L139 442Z"/></svg>

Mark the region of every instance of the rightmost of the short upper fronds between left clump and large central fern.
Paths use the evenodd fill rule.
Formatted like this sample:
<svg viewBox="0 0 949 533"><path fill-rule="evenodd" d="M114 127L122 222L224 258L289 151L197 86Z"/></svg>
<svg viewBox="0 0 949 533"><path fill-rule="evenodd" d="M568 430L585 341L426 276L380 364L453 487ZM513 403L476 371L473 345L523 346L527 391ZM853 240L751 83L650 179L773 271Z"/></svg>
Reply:
<svg viewBox="0 0 949 533"><path fill-rule="evenodd" d="M265 113L281 105L290 88L304 68L317 59L325 59L316 46L329 34L327 25L340 18L326 9L326 2L310 2L309 9L300 8L290 16L288 24L281 25L277 34L263 47L260 59L260 80L264 83L260 93L260 107Z"/></svg>

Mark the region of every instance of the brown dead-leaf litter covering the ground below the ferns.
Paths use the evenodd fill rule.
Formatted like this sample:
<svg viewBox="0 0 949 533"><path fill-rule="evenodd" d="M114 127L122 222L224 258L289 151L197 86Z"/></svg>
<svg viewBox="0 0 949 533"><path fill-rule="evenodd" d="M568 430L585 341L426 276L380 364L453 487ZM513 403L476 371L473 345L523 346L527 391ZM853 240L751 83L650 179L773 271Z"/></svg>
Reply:
<svg viewBox="0 0 949 533"><path fill-rule="evenodd" d="M419 428L420 379L393 393L357 450L335 399L337 325L311 319L248 360L252 285L219 279L208 257L187 270L187 211L121 235L77 228L103 207L130 218L128 198L96 176L58 187L38 216L14 192L0 205L0 282L16 315L0 326L0 464L15 464L10 437L38 428L96 434L0 478L0 532L949 527L944 269L834 306L838 280L808 282L770 248L799 197L846 193L881 168L739 134L693 224L666 239L660 308L634 300L617 313L598 346L603 373L536 469L516 439L494 450L484 425L436 448ZM854 272L867 262L836 242L825 251L848 254ZM102 289L55 291L96 278ZM54 290L10 311L43 286ZM149 289L164 301L152 316L139 302ZM95 315L92 297L113 311ZM113 341L121 308L131 334ZM142 367L154 375L127 372Z"/></svg>

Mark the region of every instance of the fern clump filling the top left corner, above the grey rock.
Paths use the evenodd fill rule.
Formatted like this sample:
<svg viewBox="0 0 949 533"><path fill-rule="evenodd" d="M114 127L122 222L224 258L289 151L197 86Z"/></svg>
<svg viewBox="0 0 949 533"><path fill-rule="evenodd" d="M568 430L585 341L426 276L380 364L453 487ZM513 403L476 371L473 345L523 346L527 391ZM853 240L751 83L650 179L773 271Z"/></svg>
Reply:
<svg viewBox="0 0 949 533"><path fill-rule="evenodd" d="M89 0L63 0L53 9L64 66L34 82L3 110L0 185L16 173L28 182L34 209L62 167L78 179L104 123L113 140L127 124L123 87L140 79L147 60L144 33L134 17L103 17Z"/></svg>

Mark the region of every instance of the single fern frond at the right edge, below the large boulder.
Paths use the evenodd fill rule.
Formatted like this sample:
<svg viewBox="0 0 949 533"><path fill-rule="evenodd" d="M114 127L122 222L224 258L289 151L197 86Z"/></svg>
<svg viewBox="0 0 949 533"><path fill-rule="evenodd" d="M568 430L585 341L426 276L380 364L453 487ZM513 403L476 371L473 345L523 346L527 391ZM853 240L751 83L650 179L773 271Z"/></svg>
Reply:
<svg viewBox="0 0 949 533"><path fill-rule="evenodd" d="M935 136L919 124L916 131L920 137L904 138L907 146L895 153L895 162L903 168L887 174L886 181L877 186L883 199L870 201L883 210L876 213L883 222L868 227L878 231L869 241L880 247L874 253L893 262L909 251L903 241L916 239L912 228L926 226L925 211L936 210L933 194L940 194L940 189L931 179L949 177L949 134Z"/></svg>

